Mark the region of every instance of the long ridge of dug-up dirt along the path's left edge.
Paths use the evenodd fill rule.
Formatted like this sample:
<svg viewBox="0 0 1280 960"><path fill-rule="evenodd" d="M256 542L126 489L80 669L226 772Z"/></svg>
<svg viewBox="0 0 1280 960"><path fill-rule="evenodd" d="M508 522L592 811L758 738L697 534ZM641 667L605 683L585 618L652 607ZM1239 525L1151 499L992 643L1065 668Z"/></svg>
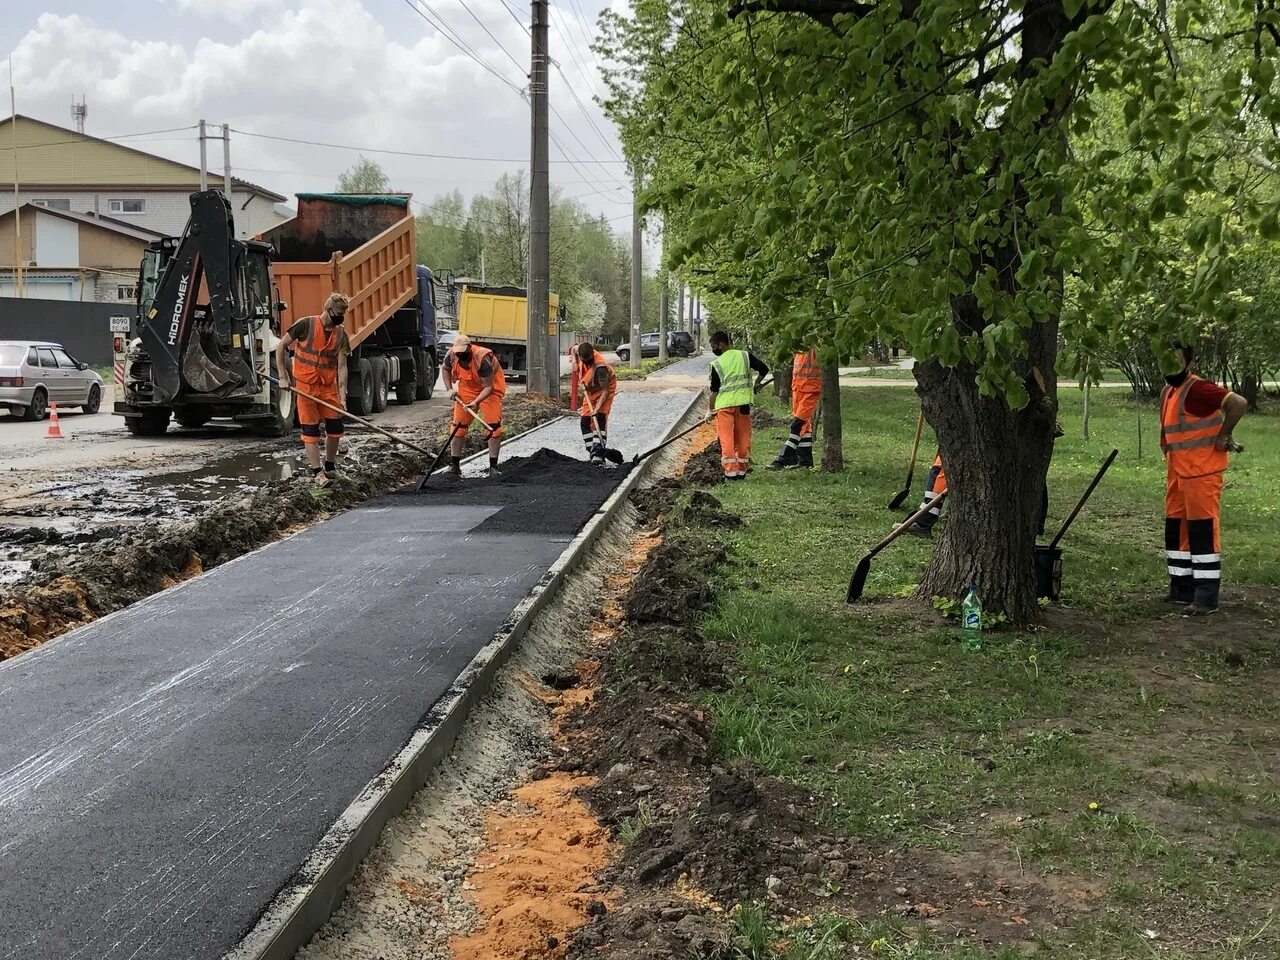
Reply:
<svg viewBox="0 0 1280 960"><path fill-rule="evenodd" d="M561 413L558 406L521 396L508 401L504 419L515 434ZM436 421L430 429L442 426ZM470 439L479 447L477 438ZM387 493L426 467L421 456L381 443L364 445L352 461L323 492L305 477L271 481L251 495L214 500L192 520L159 520L44 558L33 582L0 591L0 659Z"/></svg>

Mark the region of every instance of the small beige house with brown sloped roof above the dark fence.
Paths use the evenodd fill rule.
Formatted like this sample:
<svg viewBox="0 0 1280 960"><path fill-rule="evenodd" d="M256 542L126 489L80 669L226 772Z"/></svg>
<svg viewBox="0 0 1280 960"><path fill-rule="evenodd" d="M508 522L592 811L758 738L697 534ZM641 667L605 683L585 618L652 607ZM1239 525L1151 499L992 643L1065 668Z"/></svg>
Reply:
<svg viewBox="0 0 1280 960"><path fill-rule="evenodd" d="M132 312L142 251L163 234L109 216L23 204L20 256L24 294L33 300L122 303ZM17 296L12 268L13 210L0 214L0 297Z"/></svg>

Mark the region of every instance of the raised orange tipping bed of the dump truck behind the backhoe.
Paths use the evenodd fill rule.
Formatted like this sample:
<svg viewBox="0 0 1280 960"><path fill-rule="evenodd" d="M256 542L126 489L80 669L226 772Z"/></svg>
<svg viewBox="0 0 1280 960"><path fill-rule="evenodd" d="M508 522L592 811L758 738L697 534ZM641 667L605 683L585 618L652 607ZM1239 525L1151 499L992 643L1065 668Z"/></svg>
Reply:
<svg viewBox="0 0 1280 960"><path fill-rule="evenodd" d="M324 310L330 293L346 293L355 348L417 292L406 193L300 193L297 216L261 238L275 246L271 278L287 305L282 332Z"/></svg>

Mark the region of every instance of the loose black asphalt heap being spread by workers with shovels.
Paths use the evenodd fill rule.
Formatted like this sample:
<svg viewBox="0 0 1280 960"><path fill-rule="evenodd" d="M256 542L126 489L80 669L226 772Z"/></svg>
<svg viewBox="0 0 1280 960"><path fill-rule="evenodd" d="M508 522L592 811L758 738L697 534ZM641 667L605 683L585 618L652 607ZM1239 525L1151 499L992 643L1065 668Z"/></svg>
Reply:
<svg viewBox="0 0 1280 960"><path fill-rule="evenodd" d="M434 474L421 492L398 490L384 503L412 507L498 507L477 534L576 534L630 472L630 466L600 467L543 448L500 463L497 477L449 479Z"/></svg>

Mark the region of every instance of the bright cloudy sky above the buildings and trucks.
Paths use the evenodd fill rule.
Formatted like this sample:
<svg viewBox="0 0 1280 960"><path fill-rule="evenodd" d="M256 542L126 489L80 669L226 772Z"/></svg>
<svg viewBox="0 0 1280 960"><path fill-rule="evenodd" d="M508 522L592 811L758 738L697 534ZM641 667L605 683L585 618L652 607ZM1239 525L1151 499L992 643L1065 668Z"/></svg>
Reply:
<svg viewBox="0 0 1280 960"><path fill-rule="evenodd" d="M613 127L595 104L604 86L586 40L588 33L594 38L608 3L552 3L558 64L550 87L552 184L626 229L626 166ZM86 133L100 137L227 120L234 174L284 195L332 189L361 152L383 165L393 188L420 201L454 187L468 196L484 192L503 172L527 166L529 106L520 95L529 61L524 0L4 5L0 55L13 54L20 114L72 125L72 99L83 93ZM3 64L0 73L8 73ZM8 114L8 102L0 114ZM192 129L123 142L196 164L195 136ZM221 143L211 145L210 163L220 170Z"/></svg>

